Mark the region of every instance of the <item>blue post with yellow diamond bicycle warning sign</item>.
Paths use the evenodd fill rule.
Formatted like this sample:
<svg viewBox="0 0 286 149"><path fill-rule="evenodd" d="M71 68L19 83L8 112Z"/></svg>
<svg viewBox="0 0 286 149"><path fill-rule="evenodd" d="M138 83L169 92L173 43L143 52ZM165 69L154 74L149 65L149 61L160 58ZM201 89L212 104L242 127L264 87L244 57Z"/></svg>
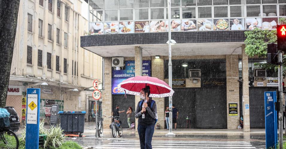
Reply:
<svg viewBox="0 0 286 149"><path fill-rule="evenodd" d="M26 149L39 149L40 89L27 89Z"/></svg>

